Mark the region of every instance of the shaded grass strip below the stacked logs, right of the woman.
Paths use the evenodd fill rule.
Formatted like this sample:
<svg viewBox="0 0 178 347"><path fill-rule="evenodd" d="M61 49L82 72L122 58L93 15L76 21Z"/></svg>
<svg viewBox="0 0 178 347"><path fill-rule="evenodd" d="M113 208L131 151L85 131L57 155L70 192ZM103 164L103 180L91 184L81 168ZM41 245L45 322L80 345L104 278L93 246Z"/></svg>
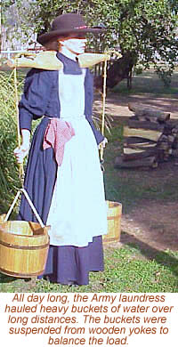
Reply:
<svg viewBox="0 0 178 347"><path fill-rule="evenodd" d="M122 152L123 125L107 133L109 144L105 151L104 182L108 200L121 201L125 213L140 200L178 201L178 182L173 166L162 163L155 169L114 169L115 157Z"/></svg>

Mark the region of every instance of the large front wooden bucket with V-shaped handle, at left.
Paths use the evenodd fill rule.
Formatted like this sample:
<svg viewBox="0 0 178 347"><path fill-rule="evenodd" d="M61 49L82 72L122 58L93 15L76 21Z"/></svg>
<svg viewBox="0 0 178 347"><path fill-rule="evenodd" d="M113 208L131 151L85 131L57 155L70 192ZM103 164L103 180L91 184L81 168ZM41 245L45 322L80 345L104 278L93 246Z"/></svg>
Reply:
<svg viewBox="0 0 178 347"><path fill-rule="evenodd" d="M28 203L39 223L7 221L20 196L20 191L28 198ZM8 276L31 278L44 272L49 249L50 226L44 226L28 193L25 190L20 191L9 212L0 216L0 271Z"/></svg>

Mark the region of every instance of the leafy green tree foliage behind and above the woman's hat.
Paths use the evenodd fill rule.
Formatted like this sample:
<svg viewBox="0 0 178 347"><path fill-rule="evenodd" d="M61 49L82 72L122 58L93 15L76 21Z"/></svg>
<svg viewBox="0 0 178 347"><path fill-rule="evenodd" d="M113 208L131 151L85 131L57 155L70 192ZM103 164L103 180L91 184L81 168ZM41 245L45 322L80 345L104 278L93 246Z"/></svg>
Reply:
<svg viewBox="0 0 178 347"><path fill-rule="evenodd" d="M21 0L16 4L20 7ZM170 83L178 56L176 0L34 0L30 4L28 22L33 22L37 33L49 29L51 20L62 12L80 12L89 25L107 28L94 43L89 40L91 49L103 52L119 45L136 69L149 69L151 63L158 76Z"/></svg>

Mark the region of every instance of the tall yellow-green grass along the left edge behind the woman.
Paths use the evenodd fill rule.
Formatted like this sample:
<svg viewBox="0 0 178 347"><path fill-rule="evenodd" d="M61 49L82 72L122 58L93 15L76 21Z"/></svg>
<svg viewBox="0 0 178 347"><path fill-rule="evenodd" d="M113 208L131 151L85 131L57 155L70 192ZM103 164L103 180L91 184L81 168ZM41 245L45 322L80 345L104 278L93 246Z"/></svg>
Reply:
<svg viewBox="0 0 178 347"><path fill-rule="evenodd" d="M4 213L20 185L18 165L13 156L13 149L18 145L13 74L1 72L0 85L0 206Z"/></svg>

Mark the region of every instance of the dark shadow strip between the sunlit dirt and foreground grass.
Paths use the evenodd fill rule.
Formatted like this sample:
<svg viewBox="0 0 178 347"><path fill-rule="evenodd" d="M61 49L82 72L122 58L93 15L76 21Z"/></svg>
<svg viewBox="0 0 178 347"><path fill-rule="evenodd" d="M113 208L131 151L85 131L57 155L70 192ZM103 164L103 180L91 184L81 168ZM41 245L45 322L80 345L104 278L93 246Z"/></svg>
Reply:
<svg viewBox="0 0 178 347"><path fill-rule="evenodd" d="M122 235L122 234L121 234ZM171 270L174 276L178 276L178 257L171 254L171 251L161 251L154 248L145 242L136 238L134 235L130 235L126 232L123 233L123 238L121 238L121 243L127 245L130 248L138 249L141 254L148 260L155 260L159 265L165 266Z"/></svg>

